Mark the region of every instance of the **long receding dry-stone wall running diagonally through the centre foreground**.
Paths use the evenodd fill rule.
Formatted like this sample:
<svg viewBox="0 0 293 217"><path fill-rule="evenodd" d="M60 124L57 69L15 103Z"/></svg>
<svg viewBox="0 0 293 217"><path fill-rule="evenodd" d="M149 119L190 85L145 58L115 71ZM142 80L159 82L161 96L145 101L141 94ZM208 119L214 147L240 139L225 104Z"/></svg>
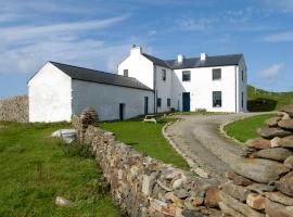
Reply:
<svg viewBox="0 0 293 217"><path fill-rule="evenodd" d="M221 216L217 208L216 180L200 178L145 156L117 141L112 132L87 126L78 117L73 123L82 143L92 146L111 194L124 215Z"/></svg>

